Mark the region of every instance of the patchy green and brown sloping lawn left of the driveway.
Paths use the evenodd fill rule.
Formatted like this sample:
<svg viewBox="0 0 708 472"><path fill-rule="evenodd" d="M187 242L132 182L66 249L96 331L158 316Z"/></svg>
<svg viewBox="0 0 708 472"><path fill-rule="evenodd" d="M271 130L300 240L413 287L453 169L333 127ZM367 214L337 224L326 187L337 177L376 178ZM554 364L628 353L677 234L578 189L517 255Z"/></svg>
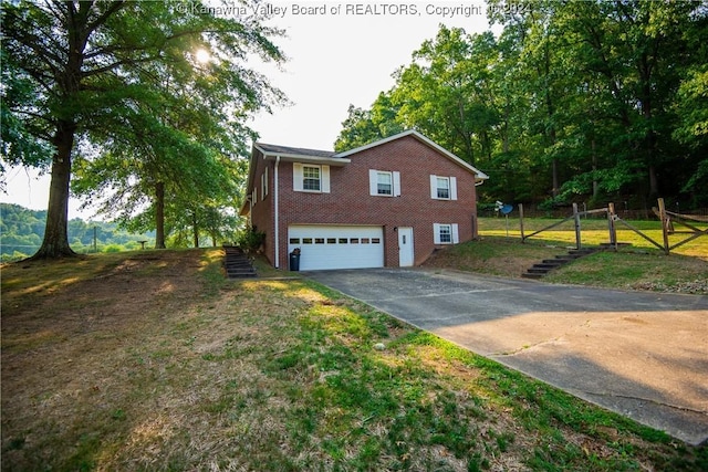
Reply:
<svg viewBox="0 0 708 472"><path fill-rule="evenodd" d="M220 262L4 265L2 470L708 469L706 447L313 282L227 281Z"/></svg>

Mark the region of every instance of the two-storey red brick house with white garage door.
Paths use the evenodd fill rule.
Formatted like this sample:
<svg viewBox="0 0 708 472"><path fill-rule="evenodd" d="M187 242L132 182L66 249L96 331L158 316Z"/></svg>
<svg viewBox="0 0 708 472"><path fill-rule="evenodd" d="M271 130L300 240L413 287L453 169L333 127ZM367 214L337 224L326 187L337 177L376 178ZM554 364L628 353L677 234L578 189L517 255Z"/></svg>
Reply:
<svg viewBox="0 0 708 472"><path fill-rule="evenodd" d="M344 153L257 143L240 214L288 269L412 266L477 235L477 189L488 176L407 130Z"/></svg>

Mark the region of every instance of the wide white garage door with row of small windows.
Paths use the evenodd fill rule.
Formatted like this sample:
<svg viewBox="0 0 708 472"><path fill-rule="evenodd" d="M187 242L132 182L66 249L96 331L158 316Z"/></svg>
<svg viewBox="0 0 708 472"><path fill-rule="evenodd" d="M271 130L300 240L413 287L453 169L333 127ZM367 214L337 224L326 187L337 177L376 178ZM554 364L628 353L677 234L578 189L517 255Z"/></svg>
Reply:
<svg viewBox="0 0 708 472"><path fill-rule="evenodd" d="M382 227L292 225L288 254L300 248L300 270L384 266Z"/></svg>

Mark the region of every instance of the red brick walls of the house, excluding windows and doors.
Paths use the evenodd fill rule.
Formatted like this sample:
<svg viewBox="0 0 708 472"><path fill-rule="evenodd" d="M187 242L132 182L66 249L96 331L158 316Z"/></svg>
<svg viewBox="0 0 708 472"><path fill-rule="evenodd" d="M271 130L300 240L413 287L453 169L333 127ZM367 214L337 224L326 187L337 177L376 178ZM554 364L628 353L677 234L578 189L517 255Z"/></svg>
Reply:
<svg viewBox="0 0 708 472"><path fill-rule="evenodd" d="M330 167L330 193L293 191L292 162L280 162L280 266L288 266L288 227L290 224L373 224L384 227L386 266L398 266L396 227L413 227L415 264L423 263L435 250L433 223L457 223L460 242L476 234L475 176L413 136L406 136L350 156L344 167ZM259 159L259 167L262 165ZM400 172L400 197L369 196L368 170ZM260 186L262 169L254 182ZM457 200L430 198L430 175L457 178ZM272 169L270 195L273 196ZM271 207L272 200L266 200ZM258 208L261 206L261 208ZM253 209L253 224L267 231L269 260L273 253L272 211L263 211L260 201ZM258 214L258 217L257 217Z"/></svg>

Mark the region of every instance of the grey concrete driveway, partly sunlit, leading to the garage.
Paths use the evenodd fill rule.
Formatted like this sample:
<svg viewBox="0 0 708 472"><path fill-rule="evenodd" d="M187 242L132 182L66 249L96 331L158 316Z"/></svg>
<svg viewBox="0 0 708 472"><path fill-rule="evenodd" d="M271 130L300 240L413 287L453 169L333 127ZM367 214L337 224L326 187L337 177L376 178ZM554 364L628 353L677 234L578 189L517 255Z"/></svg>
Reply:
<svg viewBox="0 0 708 472"><path fill-rule="evenodd" d="M690 444L708 439L708 296L452 271L304 275Z"/></svg>

